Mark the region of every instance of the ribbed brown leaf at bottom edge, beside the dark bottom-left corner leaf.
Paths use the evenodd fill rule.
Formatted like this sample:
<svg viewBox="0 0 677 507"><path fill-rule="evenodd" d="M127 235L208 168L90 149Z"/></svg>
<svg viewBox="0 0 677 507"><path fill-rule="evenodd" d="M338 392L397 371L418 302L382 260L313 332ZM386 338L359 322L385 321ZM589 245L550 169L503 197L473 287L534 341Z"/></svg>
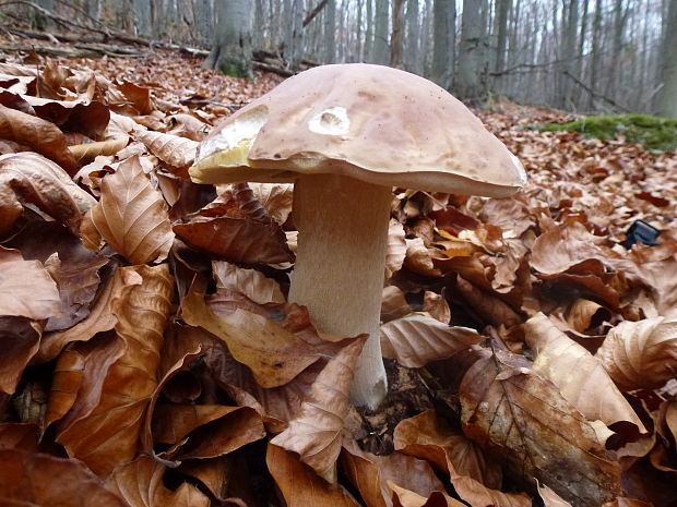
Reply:
<svg viewBox="0 0 677 507"><path fill-rule="evenodd" d="M116 469L106 487L123 498L128 507L209 507L210 499L197 487L182 483L171 491L163 483L167 467L150 456Z"/></svg>

